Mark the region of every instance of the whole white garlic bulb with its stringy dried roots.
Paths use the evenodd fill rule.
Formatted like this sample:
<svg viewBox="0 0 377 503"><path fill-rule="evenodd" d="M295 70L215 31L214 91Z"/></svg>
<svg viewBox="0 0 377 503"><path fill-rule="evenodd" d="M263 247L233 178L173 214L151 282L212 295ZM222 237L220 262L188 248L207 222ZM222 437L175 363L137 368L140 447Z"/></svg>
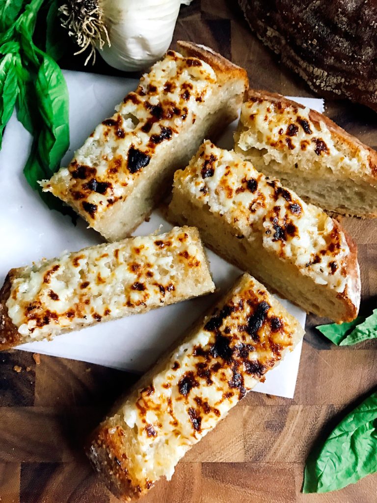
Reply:
<svg viewBox="0 0 377 503"><path fill-rule="evenodd" d="M181 4L192 0L69 0L62 25L81 48L95 48L114 68L141 70L168 49Z"/></svg>

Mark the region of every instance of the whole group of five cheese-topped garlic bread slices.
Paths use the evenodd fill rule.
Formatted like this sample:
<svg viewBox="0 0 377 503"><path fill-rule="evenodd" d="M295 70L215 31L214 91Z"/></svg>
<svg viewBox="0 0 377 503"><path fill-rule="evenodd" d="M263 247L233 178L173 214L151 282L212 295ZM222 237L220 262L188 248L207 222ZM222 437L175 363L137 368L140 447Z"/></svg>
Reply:
<svg viewBox="0 0 377 503"><path fill-rule="evenodd" d="M245 271L92 434L88 456L123 500L169 479L303 337L266 288L338 323L357 316L356 246L325 210L377 216L376 152L317 112L249 90L245 70L211 49L178 49L41 182L108 242L12 269L0 292L8 349L214 292L201 239ZM217 147L240 108L234 150ZM181 227L129 237L172 181L168 215Z"/></svg>

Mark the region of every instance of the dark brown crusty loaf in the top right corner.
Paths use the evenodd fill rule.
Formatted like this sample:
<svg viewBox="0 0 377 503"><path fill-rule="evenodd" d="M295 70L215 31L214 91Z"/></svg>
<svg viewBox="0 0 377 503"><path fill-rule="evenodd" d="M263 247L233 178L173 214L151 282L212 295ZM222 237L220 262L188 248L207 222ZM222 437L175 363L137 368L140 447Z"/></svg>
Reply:
<svg viewBox="0 0 377 503"><path fill-rule="evenodd" d="M239 0L258 38L313 91L377 110L373 0Z"/></svg>

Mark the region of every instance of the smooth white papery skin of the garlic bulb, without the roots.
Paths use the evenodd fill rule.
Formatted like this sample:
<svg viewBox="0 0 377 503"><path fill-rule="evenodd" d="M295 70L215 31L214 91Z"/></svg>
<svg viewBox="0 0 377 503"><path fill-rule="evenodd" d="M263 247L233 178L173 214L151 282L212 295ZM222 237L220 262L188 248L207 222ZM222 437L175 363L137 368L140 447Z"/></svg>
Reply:
<svg viewBox="0 0 377 503"><path fill-rule="evenodd" d="M143 70L168 49L181 4L191 0L101 0L110 45L97 47L119 70Z"/></svg>

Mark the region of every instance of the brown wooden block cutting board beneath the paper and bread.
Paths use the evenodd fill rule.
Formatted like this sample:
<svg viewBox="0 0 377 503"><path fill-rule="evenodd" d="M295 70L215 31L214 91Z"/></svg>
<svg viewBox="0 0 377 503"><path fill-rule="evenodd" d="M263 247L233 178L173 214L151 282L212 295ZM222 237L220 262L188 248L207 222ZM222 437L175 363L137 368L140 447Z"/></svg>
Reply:
<svg viewBox="0 0 377 503"><path fill-rule="evenodd" d="M247 68L254 88L314 96L251 34L236 4L194 0L182 7L174 40L213 47ZM340 101L327 102L326 114L377 147L374 112ZM361 314L368 314L376 305L377 222L345 218L343 224L358 244ZM249 393L144 503L375 503L377 474L335 493L300 493L316 439L377 385L377 341L338 348L314 329L319 322L308 316L295 398ZM115 503L92 473L82 442L135 379L82 362L41 356L36 365L29 353L2 353L0 502Z"/></svg>

